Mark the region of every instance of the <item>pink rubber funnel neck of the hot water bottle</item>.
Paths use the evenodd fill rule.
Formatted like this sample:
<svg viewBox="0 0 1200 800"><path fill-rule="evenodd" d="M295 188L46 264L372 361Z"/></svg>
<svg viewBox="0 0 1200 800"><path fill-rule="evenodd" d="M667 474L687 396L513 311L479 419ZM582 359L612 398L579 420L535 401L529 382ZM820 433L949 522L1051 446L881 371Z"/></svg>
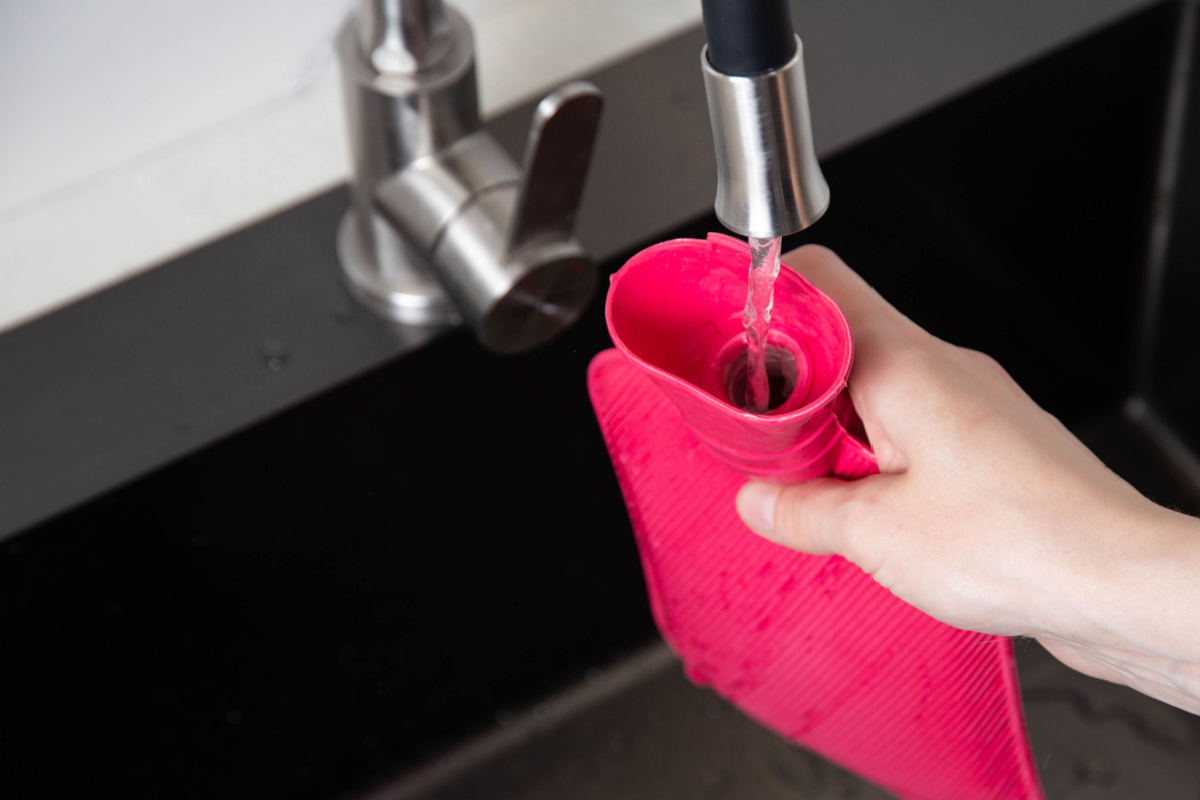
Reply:
<svg viewBox="0 0 1200 800"><path fill-rule="evenodd" d="M757 415L725 391L731 362L745 351L750 247L710 234L649 247L612 278L605 315L617 349L678 407L721 461L762 480L791 483L821 475L876 471L845 393L853 360L850 325L838 306L784 266L775 282L767 344L796 359L796 390Z"/></svg>

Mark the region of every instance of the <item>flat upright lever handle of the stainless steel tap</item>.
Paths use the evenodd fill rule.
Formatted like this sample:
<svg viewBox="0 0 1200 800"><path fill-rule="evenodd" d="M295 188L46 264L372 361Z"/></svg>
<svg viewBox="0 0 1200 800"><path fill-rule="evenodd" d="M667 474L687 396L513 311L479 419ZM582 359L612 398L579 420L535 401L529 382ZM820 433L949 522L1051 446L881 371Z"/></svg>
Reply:
<svg viewBox="0 0 1200 800"><path fill-rule="evenodd" d="M509 253L571 237L602 107L600 90L583 80L559 86L538 104L526 144Z"/></svg>

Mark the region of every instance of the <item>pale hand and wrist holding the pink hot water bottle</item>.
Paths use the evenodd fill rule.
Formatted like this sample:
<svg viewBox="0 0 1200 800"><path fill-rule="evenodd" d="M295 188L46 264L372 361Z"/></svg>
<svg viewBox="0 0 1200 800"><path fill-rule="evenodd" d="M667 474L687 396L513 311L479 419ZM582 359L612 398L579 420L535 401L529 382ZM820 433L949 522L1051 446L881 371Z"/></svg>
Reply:
<svg viewBox="0 0 1200 800"><path fill-rule="evenodd" d="M748 483L743 521L944 622L1036 637L1200 714L1200 521L1139 494L996 361L925 332L830 251L782 260L850 320L851 398L881 474Z"/></svg>

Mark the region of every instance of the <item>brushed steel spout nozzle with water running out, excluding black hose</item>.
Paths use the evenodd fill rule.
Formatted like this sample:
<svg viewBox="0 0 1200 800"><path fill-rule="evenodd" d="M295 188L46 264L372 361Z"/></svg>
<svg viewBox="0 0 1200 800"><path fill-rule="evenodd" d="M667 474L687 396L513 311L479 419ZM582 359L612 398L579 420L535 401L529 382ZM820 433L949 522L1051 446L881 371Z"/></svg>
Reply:
<svg viewBox="0 0 1200 800"><path fill-rule="evenodd" d="M829 207L809 119L803 46L762 74L732 76L701 55L716 148L716 217L743 236L786 236Z"/></svg>

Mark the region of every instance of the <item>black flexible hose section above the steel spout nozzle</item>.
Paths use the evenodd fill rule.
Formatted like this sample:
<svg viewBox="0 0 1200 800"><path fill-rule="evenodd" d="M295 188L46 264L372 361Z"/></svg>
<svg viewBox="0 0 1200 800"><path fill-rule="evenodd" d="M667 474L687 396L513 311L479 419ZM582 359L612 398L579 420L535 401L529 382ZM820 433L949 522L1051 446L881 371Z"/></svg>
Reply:
<svg viewBox="0 0 1200 800"><path fill-rule="evenodd" d="M708 61L730 76L778 70L796 53L787 0L702 0Z"/></svg>

